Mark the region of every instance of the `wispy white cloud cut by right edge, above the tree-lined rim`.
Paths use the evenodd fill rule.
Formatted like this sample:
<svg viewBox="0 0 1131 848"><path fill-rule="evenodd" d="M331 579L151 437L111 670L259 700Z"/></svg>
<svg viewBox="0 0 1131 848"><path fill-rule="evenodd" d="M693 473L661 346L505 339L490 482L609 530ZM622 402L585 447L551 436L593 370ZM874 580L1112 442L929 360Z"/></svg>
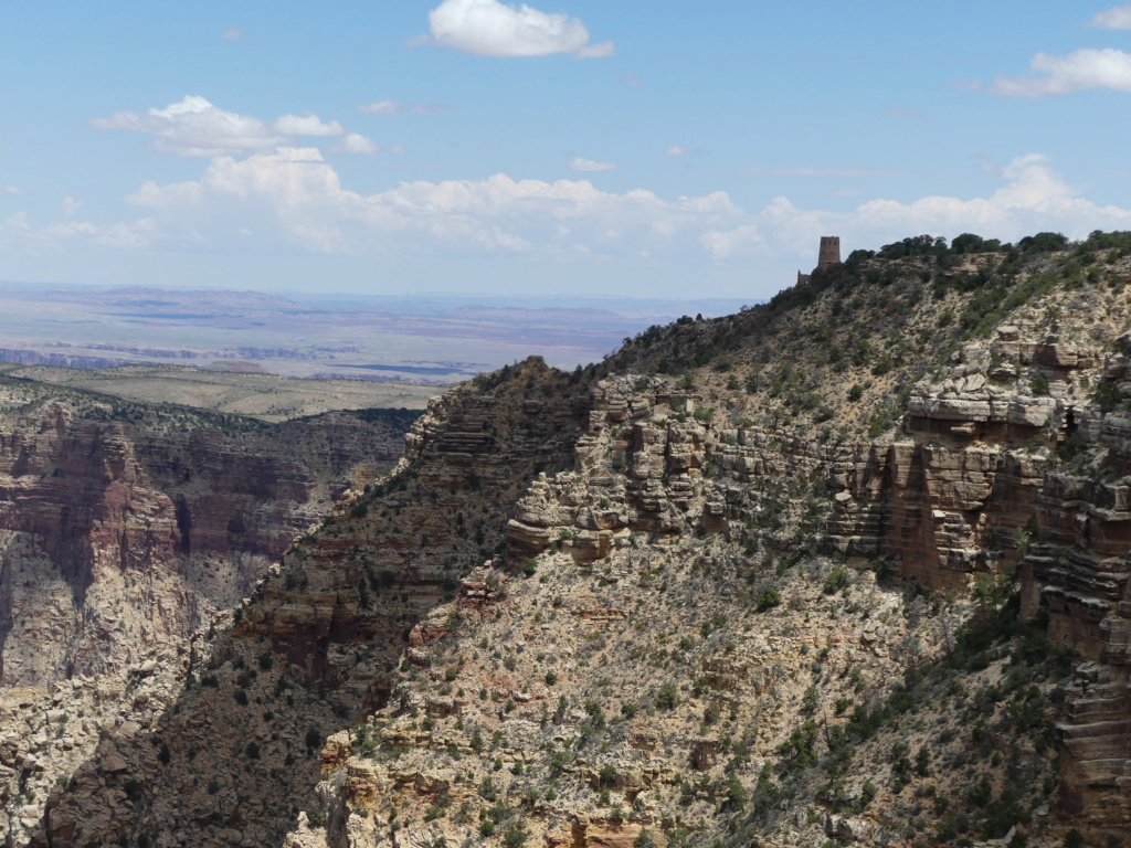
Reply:
<svg viewBox="0 0 1131 848"><path fill-rule="evenodd" d="M1087 88L1131 92L1131 54L1122 50L1086 47L1067 55L1037 53L1029 68L1031 75L996 76L990 85L975 87L1011 97L1044 97Z"/></svg>

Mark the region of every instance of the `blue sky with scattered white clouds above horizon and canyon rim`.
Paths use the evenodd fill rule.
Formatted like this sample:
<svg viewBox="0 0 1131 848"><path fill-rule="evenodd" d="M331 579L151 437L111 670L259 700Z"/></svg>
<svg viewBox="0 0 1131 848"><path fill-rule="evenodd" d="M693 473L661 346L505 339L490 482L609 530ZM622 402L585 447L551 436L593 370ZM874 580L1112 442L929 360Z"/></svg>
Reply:
<svg viewBox="0 0 1131 848"><path fill-rule="evenodd" d="M771 296L1131 230L1131 3L5 0L0 280Z"/></svg>

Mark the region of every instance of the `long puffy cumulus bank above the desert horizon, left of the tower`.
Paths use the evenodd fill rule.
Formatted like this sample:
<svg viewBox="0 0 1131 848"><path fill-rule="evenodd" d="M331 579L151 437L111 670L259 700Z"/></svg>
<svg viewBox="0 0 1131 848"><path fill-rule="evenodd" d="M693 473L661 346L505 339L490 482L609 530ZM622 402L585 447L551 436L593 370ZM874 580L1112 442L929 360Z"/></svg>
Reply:
<svg viewBox="0 0 1131 848"><path fill-rule="evenodd" d="M737 223L725 192L665 200L604 192L586 180L403 183L375 194L343 187L313 148L211 161L200 180L146 183L129 201L170 241L224 242L238 228L340 254L529 253L552 258L693 250L705 228ZM252 240L253 241L253 240Z"/></svg>

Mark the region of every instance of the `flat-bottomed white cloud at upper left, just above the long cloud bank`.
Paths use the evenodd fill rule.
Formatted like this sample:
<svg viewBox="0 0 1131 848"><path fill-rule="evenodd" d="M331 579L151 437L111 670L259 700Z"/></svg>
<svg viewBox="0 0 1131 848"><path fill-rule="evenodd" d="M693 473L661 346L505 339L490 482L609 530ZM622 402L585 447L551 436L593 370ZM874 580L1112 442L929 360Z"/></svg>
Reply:
<svg viewBox="0 0 1131 848"><path fill-rule="evenodd" d="M144 114L114 112L109 118L93 119L90 126L100 130L131 130L153 136L154 149L178 156L261 153L293 145L300 137L344 137L345 140L335 149L366 154L377 150L369 139L348 132L337 121L326 122L312 112L280 115L268 123L219 109L197 95L185 95L178 103L164 109L150 109Z"/></svg>

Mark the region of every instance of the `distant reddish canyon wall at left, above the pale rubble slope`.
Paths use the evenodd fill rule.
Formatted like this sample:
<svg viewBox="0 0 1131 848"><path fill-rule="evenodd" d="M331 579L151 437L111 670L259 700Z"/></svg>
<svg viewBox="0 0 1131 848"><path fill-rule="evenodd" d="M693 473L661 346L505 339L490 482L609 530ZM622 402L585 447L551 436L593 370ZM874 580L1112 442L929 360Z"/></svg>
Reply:
<svg viewBox="0 0 1131 848"><path fill-rule="evenodd" d="M123 668L233 606L395 424L225 433L41 399L0 419L0 684Z"/></svg>

